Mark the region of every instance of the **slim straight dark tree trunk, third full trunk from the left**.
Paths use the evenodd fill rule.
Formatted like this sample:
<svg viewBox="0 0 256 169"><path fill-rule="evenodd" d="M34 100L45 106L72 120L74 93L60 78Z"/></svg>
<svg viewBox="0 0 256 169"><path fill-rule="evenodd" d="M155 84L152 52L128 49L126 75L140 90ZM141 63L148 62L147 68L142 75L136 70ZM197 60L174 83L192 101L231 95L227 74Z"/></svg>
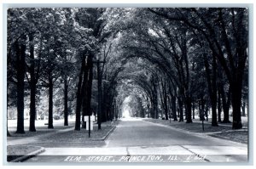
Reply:
<svg viewBox="0 0 256 169"><path fill-rule="evenodd" d="M49 73L49 118L48 118L48 128L53 127L53 82L51 77L51 72Z"/></svg>

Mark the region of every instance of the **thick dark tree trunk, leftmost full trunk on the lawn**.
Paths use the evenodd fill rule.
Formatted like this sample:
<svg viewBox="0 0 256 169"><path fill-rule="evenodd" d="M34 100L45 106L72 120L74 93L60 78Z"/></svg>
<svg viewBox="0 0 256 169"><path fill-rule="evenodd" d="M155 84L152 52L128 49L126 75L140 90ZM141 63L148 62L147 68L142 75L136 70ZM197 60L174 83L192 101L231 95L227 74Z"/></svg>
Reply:
<svg viewBox="0 0 256 169"><path fill-rule="evenodd" d="M26 36L23 35L23 40ZM17 130L16 133L25 133L24 131L24 86L25 86L25 71L26 71L26 45L15 42L15 50L17 57Z"/></svg>

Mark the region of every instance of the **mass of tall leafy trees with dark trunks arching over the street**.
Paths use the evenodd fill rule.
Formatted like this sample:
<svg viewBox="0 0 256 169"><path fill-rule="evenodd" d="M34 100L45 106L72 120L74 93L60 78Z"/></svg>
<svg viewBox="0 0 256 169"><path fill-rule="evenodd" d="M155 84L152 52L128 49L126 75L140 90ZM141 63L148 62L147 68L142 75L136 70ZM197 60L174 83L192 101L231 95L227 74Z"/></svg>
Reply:
<svg viewBox="0 0 256 169"><path fill-rule="evenodd" d="M95 113L100 124L124 106L131 116L187 123L211 110L212 126L232 115L242 127L247 8L9 8L7 48L19 133L26 109L35 132L40 115L49 128L54 114L65 126L76 115L80 130L81 116Z"/></svg>

